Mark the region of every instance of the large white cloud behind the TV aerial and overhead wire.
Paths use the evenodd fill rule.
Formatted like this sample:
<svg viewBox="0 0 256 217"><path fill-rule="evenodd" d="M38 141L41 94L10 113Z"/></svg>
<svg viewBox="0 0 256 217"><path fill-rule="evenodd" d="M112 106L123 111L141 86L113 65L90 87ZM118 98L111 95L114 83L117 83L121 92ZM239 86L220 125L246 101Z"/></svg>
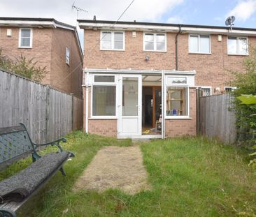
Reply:
<svg viewBox="0 0 256 217"><path fill-rule="evenodd" d="M75 0L1 0L1 17L51 17L68 24L76 24L76 10L71 10ZM76 0L75 5L88 11L80 12L78 18L92 20L117 20L131 0ZM159 22L162 15L183 0L135 0L121 20Z"/></svg>

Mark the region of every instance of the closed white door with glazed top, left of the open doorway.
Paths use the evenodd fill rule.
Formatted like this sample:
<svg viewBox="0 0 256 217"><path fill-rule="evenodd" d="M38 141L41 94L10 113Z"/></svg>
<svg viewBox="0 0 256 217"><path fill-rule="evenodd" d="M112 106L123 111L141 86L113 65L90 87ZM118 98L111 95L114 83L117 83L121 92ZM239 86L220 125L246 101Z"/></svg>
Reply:
<svg viewBox="0 0 256 217"><path fill-rule="evenodd" d="M141 75L120 75L118 137L141 135Z"/></svg>

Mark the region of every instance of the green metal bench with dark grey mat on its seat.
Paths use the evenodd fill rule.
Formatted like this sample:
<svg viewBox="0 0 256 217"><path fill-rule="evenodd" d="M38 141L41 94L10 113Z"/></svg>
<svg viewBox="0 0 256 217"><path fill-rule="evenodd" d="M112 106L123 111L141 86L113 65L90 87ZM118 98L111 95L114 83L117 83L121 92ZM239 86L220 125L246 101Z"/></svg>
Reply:
<svg viewBox="0 0 256 217"><path fill-rule="evenodd" d="M66 139L35 144L31 141L24 124L0 128L0 170L30 154L33 160L33 163L24 170L0 181L0 217L15 217L15 211L44 186L58 170L66 176L62 165L74 155L63 151L59 142L66 142ZM59 151L39 156L37 148L47 145L56 145Z"/></svg>

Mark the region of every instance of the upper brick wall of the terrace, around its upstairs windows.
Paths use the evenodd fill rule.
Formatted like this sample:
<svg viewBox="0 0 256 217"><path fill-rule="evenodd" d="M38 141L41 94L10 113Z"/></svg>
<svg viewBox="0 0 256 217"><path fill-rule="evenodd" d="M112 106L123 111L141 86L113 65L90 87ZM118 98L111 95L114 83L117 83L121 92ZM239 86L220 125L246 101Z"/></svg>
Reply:
<svg viewBox="0 0 256 217"><path fill-rule="evenodd" d="M85 30L84 66L173 70L176 68L175 36L176 33L166 34L167 52L143 52L143 32L136 31L136 38L132 38L131 31L126 31L125 51L106 51L100 50L100 31ZM250 45L256 46L256 38L248 40ZM218 42L217 35L211 35L211 54L189 54L188 41L187 33L178 36L178 69L196 70L195 85L223 88L232 79L229 70L243 71L242 62L246 57L227 55L227 36L222 36L222 41ZM149 61L145 61L146 55Z"/></svg>

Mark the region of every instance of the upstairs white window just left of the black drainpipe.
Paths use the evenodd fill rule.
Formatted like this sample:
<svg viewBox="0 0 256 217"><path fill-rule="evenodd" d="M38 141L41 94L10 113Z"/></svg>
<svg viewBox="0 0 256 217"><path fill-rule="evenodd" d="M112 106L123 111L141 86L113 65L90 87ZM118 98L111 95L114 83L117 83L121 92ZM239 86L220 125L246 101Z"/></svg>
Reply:
<svg viewBox="0 0 256 217"><path fill-rule="evenodd" d="M143 50L166 52L166 34L144 33Z"/></svg>

